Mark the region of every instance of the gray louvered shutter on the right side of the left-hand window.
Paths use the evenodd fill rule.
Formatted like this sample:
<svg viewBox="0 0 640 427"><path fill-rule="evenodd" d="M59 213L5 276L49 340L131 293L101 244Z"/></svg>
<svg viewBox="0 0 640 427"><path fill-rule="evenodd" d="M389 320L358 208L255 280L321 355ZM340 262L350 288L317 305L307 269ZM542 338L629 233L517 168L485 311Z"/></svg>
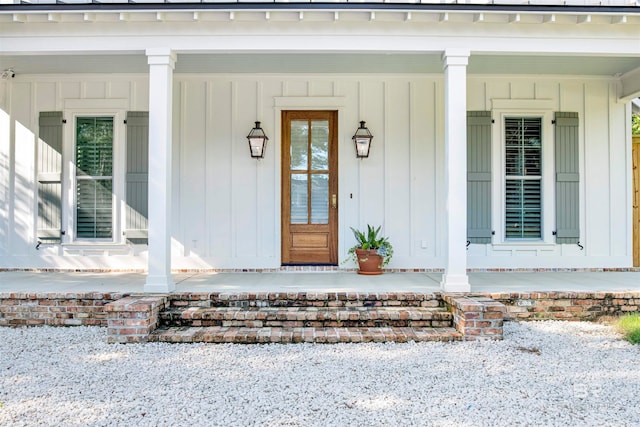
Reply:
<svg viewBox="0 0 640 427"><path fill-rule="evenodd" d="M147 243L149 209L149 113L127 113L127 196L125 236Z"/></svg>

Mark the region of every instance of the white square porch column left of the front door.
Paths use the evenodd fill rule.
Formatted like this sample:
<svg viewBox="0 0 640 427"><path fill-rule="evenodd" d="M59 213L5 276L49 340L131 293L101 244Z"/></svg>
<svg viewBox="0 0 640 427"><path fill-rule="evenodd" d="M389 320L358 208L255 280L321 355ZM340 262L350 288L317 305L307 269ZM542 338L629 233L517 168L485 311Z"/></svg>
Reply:
<svg viewBox="0 0 640 427"><path fill-rule="evenodd" d="M171 119L176 54L147 49L149 63L149 273L145 292L171 292Z"/></svg>

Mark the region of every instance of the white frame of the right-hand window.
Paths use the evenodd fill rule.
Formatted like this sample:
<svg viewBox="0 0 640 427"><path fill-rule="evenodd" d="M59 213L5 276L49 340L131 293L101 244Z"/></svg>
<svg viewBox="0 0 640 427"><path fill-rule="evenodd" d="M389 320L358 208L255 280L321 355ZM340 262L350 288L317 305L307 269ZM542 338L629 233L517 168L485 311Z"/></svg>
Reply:
<svg viewBox="0 0 640 427"><path fill-rule="evenodd" d="M509 102L502 100L500 108L494 108L493 117L499 128L492 135L492 229L495 231L494 245L507 246L540 246L555 243L553 230L555 229L555 150L554 150L554 109L547 102L541 100L523 100ZM507 117L539 117L542 120L542 159L541 159L541 238L540 239L507 239L506 238L506 138L505 119Z"/></svg>

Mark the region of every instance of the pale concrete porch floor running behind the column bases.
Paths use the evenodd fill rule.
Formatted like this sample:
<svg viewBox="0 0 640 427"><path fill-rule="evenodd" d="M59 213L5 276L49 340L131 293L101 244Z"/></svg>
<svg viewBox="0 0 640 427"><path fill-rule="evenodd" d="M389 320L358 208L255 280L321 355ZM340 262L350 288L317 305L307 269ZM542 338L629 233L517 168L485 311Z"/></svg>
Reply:
<svg viewBox="0 0 640 427"><path fill-rule="evenodd" d="M176 292L437 292L439 273L176 273ZM143 292L144 273L0 272L0 292ZM472 292L640 291L640 272L469 273Z"/></svg>

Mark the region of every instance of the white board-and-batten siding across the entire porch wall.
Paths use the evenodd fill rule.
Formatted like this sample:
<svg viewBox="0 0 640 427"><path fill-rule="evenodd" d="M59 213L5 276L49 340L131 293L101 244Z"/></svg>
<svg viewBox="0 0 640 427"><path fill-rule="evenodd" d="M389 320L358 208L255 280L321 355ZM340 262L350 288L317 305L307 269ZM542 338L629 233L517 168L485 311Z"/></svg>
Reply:
<svg viewBox="0 0 640 427"><path fill-rule="evenodd" d="M470 76L467 87L469 111L491 111L495 99L545 99L554 112L578 113L584 246L476 243L469 247L469 267L630 265L630 149L625 106L615 102L615 82ZM337 107L339 259L346 258L353 242L349 227L371 223L383 225L391 237L395 256L390 267L442 268L443 77L329 74L174 76L173 267L279 266L280 116L274 99L287 97L342 100ZM10 182L0 188L0 267L146 266L145 247L127 245L124 237L115 248L90 248L94 252L73 245L35 250L39 113L65 111L65 104L77 99L124 99L123 113L148 111L148 81L144 75L48 76L38 81L24 76L8 89L0 85L0 105L8 114L0 121L12 129L0 127L0 177L8 177L0 185ZM270 138L262 160L249 156L246 142L256 120ZM356 159L351 141L360 120L374 135L368 159ZM124 136L118 141L122 150L124 141ZM15 159L14 164L8 167L3 159ZM502 196L494 192L493 197ZM124 206L126 200L120 202ZM125 209L120 212L124 230ZM81 253L99 256L66 256Z"/></svg>

